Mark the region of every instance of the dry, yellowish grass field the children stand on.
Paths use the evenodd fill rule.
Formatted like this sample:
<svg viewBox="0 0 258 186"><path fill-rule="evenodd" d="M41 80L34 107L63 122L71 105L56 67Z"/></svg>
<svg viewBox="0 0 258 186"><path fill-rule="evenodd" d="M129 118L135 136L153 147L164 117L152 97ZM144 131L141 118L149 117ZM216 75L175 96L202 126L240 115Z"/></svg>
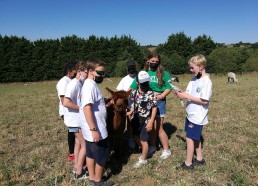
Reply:
<svg viewBox="0 0 258 186"><path fill-rule="evenodd" d="M185 89L191 75L180 75ZM213 95L209 124L204 127L206 166L194 172L176 171L185 158L185 108L173 94L167 97L164 127L172 156L159 160L161 150L140 169L139 154L124 165L113 164L109 180L117 185L258 185L258 74L237 77L211 74ZM115 90L120 78L105 79ZM67 129L58 118L57 81L0 84L0 185L87 185L76 181L67 161Z"/></svg>

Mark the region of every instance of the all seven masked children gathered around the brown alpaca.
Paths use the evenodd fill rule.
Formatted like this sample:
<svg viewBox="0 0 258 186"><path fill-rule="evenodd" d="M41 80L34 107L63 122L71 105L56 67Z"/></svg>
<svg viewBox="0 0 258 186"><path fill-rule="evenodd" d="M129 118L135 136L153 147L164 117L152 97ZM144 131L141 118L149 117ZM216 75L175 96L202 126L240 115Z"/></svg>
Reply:
<svg viewBox="0 0 258 186"><path fill-rule="evenodd" d="M194 166L205 164L200 139L203 125L208 123L212 94L212 82L205 71L206 63L203 55L192 57L188 64L194 77L185 92L174 92L179 99L187 100L187 153L185 161L177 169L193 170ZM139 73L136 72L133 60L127 62L126 68L128 75L116 89L131 91L127 108L127 132L129 147L134 148L136 143L141 148L141 155L134 164L135 168L139 168L157 150L157 137L163 148L160 158L164 160L171 156L163 122L166 96L173 90L173 86L169 83L170 75L162 66L157 52L150 52L144 69ZM81 61L75 66L69 63L65 68L65 76L57 84L59 115L68 127L68 159L73 160L74 157L75 177L85 178L88 170L88 179L93 185L103 184L101 177L110 152L105 120L106 105L97 85L103 81L104 76L105 63L100 60Z"/></svg>

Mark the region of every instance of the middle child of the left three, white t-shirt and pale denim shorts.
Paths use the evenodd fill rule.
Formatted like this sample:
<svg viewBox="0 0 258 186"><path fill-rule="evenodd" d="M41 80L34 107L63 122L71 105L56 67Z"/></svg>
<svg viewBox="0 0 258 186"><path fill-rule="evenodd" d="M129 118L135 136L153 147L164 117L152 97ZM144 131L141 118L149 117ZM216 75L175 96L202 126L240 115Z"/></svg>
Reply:
<svg viewBox="0 0 258 186"><path fill-rule="evenodd" d="M87 78L87 62L79 61L76 64L77 76L67 85L64 98L64 123L69 132L75 135L74 147L74 168L73 172L76 179L87 178L86 172L82 167L86 160L86 145L80 128L79 109L81 105L81 88Z"/></svg>

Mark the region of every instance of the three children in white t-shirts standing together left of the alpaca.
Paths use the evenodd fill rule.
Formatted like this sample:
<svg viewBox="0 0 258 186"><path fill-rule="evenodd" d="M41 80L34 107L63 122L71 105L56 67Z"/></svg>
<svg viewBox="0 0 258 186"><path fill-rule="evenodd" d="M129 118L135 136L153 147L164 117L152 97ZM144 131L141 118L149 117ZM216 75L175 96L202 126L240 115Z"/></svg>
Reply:
<svg viewBox="0 0 258 186"><path fill-rule="evenodd" d="M106 184L101 179L109 158L106 104L97 86L104 76L105 63L101 60L70 62L56 86L59 115L68 127L72 172L76 179L88 178L91 185Z"/></svg>

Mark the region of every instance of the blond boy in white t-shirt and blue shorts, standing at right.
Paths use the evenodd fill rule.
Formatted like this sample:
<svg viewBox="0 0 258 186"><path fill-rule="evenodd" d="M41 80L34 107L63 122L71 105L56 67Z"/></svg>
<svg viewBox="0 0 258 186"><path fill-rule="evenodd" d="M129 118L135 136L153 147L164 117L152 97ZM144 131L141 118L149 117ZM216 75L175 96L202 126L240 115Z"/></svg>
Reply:
<svg viewBox="0 0 258 186"><path fill-rule="evenodd" d="M195 75L189 82L186 92L176 92L180 99L187 99L186 105L186 160L177 170L193 170L194 166L204 165L201 135L203 126L208 123L208 108L212 95L212 82L206 74L206 59L196 55L189 61L190 71ZM193 159L194 151L196 158Z"/></svg>

